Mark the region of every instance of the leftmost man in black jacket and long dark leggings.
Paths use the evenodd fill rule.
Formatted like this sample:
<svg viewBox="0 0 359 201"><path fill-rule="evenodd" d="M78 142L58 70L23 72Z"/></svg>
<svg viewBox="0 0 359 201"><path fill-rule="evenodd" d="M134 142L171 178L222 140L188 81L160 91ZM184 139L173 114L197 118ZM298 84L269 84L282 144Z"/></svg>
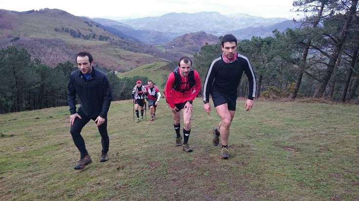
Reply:
<svg viewBox="0 0 359 201"><path fill-rule="evenodd" d="M93 58L88 52L80 52L76 55L78 70L70 75L68 82L67 103L70 106L70 133L79 149L81 158L75 169L83 169L90 164L91 157L88 154L84 138L80 132L92 119L95 121L100 134L102 154L100 162L108 160L109 138L107 134L107 112L111 104L111 89L105 73L92 66ZM76 112L76 94L79 96L81 106Z"/></svg>

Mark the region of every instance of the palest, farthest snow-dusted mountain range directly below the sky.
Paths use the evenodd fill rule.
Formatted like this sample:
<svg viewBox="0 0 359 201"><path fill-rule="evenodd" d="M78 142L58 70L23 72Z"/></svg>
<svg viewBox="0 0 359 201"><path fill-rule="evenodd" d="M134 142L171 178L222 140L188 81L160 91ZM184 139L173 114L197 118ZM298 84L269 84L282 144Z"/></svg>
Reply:
<svg viewBox="0 0 359 201"><path fill-rule="evenodd" d="M200 13L169 13L160 17L148 17L120 20L137 30L156 30L164 33L174 33L175 37L192 32L204 31L208 34L221 36L234 30L269 26L288 20L286 18L262 18L237 14L221 15L217 12Z"/></svg>

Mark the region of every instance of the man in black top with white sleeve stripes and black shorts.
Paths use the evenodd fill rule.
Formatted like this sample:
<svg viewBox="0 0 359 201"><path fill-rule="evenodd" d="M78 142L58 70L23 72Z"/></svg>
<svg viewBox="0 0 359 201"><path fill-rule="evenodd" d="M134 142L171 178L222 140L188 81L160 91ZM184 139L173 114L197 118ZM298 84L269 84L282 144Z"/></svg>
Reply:
<svg viewBox="0 0 359 201"><path fill-rule="evenodd" d="M221 118L218 128L212 130L214 146L222 141L221 158L229 158L228 139L230 126L234 117L237 100L237 87L243 72L249 81L249 95L246 110L251 110L255 97L256 80L253 68L247 57L237 53L237 39L232 35L222 38L222 55L213 59L203 85L203 107L207 113L211 111L209 96L211 94L214 107Z"/></svg>

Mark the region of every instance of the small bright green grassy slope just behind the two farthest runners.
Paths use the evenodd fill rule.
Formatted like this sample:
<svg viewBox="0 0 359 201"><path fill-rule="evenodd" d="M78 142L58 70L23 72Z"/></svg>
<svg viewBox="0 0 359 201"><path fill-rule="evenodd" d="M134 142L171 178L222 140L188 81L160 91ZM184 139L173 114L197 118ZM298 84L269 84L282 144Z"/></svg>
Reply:
<svg viewBox="0 0 359 201"><path fill-rule="evenodd" d="M137 67L125 73L118 73L117 75L119 76L119 78L146 76L148 77L148 79L152 80L159 88L163 88L161 85L167 80L171 69L171 64L167 62L157 62Z"/></svg>

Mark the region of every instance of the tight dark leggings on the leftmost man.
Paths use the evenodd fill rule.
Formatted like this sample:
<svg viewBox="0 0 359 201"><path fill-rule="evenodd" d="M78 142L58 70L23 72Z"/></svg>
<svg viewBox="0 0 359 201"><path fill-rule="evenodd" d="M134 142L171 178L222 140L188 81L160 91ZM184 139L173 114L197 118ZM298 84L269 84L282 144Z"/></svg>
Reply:
<svg viewBox="0 0 359 201"><path fill-rule="evenodd" d="M89 118L84 115L81 115L82 119L76 118L74 124L70 128L70 133L72 135L72 139L76 145L76 147L79 149L81 153L81 157L84 157L87 155L87 150L84 142L84 138L81 136L80 132L82 128L92 119L96 120L96 118ZM102 154L106 154L108 152L108 146L109 146L109 138L107 134L107 119L105 120L105 123L97 127L99 129L100 135L101 135L101 144L102 144Z"/></svg>

